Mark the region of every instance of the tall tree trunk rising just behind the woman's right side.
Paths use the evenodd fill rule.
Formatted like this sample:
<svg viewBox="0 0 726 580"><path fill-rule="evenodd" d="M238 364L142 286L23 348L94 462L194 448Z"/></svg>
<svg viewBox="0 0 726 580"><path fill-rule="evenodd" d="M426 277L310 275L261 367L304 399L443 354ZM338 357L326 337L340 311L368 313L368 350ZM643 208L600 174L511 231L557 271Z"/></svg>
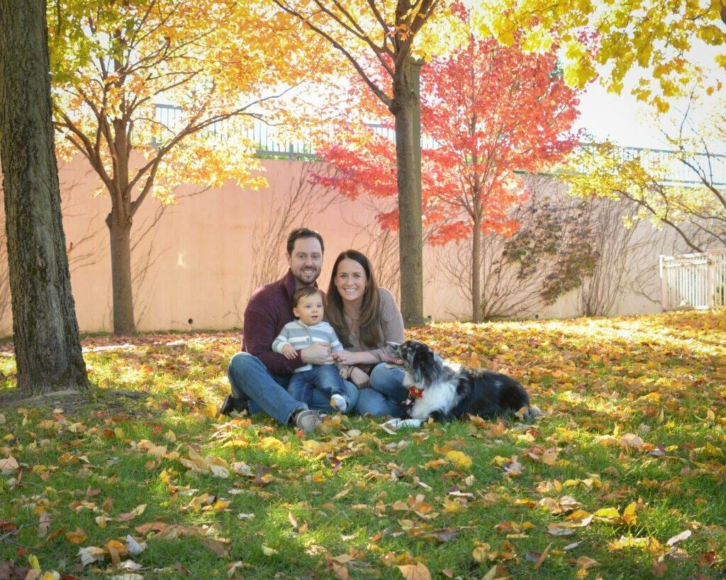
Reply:
<svg viewBox="0 0 726 580"><path fill-rule="evenodd" d="M396 117L401 314L407 327L423 323L423 231L421 194L415 181L413 152L415 95L410 82L410 67L410 61L406 59L396 68L391 104L391 112Z"/></svg>

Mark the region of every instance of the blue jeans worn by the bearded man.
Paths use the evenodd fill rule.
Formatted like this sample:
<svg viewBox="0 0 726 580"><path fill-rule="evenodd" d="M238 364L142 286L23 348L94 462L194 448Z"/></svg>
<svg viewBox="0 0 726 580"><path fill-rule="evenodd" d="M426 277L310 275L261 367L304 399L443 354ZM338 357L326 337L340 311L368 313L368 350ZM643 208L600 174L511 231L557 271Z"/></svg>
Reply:
<svg viewBox="0 0 726 580"><path fill-rule="evenodd" d="M297 410L311 408L323 412L331 412L330 397L325 397L317 389L313 392L312 404L295 400L287 392L289 376L274 376L257 357L248 352L237 352L229 361L227 368L229 386L237 399L249 401L250 413L266 413L283 425L290 423L290 418ZM357 387L344 381L350 405L355 407L358 401Z"/></svg>

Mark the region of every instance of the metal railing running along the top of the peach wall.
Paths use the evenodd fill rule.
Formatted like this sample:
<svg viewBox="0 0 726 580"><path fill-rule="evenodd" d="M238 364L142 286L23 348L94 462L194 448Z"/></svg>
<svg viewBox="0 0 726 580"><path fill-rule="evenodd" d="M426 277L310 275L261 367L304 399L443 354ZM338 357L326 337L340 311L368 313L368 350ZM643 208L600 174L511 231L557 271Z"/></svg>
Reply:
<svg viewBox="0 0 726 580"><path fill-rule="evenodd" d="M156 105L156 121L168 128L173 128L181 117L181 107L169 104ZM374 133L396 142L396 133L393 128L380 123L368 124ZM255 120L252 125L240 121L221 121L210 125L208 133L224 138L231 133L241 131L245 138L254 144L259 157L287 157L289 159L317 159L311 138L290 139L281 136L280 130ZM438 146L436 140L429 136L421 137L421 146L424 149L433 149ZM587 146L587 145L583 145ZM696 179L693 170L687 167L680 159L677 151L668 149L645 149L643 147L618 147L619 154L624 160L640 159L641 165L660 176L661 183L666 185L699 186L701 181ZM690 159L697 166L710 167L712 184L717 187L726 186L726 155L696 154Z"/></svg>

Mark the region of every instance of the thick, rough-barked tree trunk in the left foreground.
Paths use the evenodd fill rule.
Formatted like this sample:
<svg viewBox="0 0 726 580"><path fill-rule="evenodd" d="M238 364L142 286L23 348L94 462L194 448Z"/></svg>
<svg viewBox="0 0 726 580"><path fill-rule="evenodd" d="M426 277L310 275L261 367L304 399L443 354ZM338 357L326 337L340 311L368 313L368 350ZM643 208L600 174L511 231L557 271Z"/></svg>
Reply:
<svg viewBox="0 0 726 580"><path fill-rule="evenodd" d="M86 389L53 144L44 0L0 0L2 159L17 386Z"/></svg>

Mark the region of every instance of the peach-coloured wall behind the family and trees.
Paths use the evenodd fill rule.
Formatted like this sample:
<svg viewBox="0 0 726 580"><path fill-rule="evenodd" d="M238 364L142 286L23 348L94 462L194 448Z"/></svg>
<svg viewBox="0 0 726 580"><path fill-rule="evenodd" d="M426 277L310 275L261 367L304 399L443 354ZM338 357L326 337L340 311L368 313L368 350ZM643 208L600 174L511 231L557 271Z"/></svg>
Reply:
<svg viewBox="0 0 726 580"><path fill-rule="evenodd" d="M258 269L269 265L272 273L269 276L277 277L285 271L282 242L273 244L272 252L264 252L260 247L267 239L274 241L266 228L284 217L284 207L292 203L291 195L296 191L305 164L265 159L262 165L269 188L260 191L242 189L228 182L221 188L189 195L194 191L184 186L179 189L179 204L162 208L154 199L144 202L134 219L135 239L149 228L161 209L163 215L133 252L137 276L134 302L139 330L240 326L245 303L256 286L253 279L256 263ZM93 195L99 182L80 157L61 165L60 181L78 323L83 331L110 331L110 257L104 223L110 200L105 194ZM368 204L337 199L319 189L309 190L307 195L309 199L303 207L295 207L293 215L287 215L290 222L285 232L304 223L322 233L327 260L321 286L327 287L328 265L343 249L356 247L370 254L397 255L397 242L387 240L373 225L375 209ZM654 249L653 260L657 260L657 255L658 249ZM438 260L445 259L441 250L425 249L424 313L434 320L452 316L467 318L470 306L436 267ZM393 266L394 273L389 273L388 278L383 276L382 284L392 286L393 283L386 283L386 279L390 281L395 276L391 259L378 258L375 265L381 273L386 265L389 270ZM7 265L4 271L7 275ZM657 304L635 295L621 302L619 311L624 313L659 310ZM576 312L574 292L538 314L547 318L573 316ZM0 314L0 334L7 335L12 332L9 307Z"/></svg>

